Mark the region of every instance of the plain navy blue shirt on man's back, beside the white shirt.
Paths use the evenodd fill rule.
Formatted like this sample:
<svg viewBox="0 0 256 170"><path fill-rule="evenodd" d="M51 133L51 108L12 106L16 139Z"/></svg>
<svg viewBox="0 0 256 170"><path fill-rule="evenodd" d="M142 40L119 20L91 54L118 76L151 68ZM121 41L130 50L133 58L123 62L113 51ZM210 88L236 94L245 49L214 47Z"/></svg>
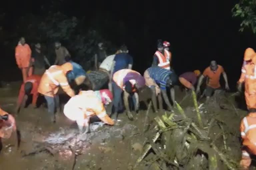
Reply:
<svg viewBox="0 0 256 170"><path fill-rule="evenodd" d="M114 73L118 70L128 68L129 64L133 64L133 58L128 53L119 53L116 54L115 58L115 66L114 66Z"/></svg>

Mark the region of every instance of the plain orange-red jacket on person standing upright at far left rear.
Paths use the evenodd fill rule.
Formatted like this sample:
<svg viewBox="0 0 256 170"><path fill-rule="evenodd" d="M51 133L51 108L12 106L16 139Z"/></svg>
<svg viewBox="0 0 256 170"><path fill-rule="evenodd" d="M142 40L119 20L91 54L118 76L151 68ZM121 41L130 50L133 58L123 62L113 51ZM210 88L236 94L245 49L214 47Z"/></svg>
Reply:
<svg viewBox="0 0 256 170"><path fill-rule="evenodd" d="M21 43L19 43L15 48L15 58L19 68L28 67L31 58L31 49L29 45L21 45Z"/></svg>

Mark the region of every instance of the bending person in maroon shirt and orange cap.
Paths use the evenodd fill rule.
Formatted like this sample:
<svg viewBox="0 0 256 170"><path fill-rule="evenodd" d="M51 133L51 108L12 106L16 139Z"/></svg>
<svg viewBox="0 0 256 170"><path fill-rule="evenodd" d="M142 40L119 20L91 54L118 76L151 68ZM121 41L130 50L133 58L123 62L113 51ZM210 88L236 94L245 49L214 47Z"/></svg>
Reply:
<svg viewBox="0 0 256 170"><path fill-rule="evenodd" d="M194 70L194 72L185 72L179 76L179 81L186 89L195 91L197 77L200 76L200 74L201 72L199 70Z"/></svg>

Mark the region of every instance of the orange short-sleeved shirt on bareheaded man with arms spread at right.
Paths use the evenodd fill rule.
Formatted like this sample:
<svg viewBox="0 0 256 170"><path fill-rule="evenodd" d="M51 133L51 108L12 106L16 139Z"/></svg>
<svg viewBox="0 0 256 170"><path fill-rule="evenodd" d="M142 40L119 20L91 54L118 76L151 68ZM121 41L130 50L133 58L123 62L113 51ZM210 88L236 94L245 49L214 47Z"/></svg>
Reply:
<svg viewBox="0 0 256 170"><path fill-rule="evenodd" d="M210 67L207 67L203 72L203 75L209 78L207 86L213 89L220 88L220 75L223 72L224 69L221 65L218 65L218 69L216 71L212 71Z"/></svg>

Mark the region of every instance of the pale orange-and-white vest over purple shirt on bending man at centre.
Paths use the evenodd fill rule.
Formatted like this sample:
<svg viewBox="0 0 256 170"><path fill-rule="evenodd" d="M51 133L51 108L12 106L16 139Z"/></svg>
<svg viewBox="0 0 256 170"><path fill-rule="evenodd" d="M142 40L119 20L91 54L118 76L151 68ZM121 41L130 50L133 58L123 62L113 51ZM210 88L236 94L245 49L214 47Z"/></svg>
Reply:
<svg viewBox="0 0 256 170"><path fill-rule="evenodd" d="M131 73L131 74L129 74ZM129 75L128 75L129 74ZM122 69L118 70L113 74L113 81L121 88L124 89L125 82L130 81L130 83L134 86L137 83L138 88L145 85L145 79L141 74L137 71L131 69Z"/></svg>

